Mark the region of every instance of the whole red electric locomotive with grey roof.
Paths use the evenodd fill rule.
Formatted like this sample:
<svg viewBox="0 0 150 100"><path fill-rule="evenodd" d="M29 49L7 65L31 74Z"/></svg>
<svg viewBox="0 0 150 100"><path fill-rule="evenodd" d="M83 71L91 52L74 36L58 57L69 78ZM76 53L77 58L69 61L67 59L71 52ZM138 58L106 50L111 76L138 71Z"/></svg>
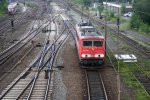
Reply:
<svg viewBox="0 0 150 100"><path fill-rule="evenodd" d="M76 25L76 46L80 64L102 65L105 60L105 38L90 23Z"/></svg>

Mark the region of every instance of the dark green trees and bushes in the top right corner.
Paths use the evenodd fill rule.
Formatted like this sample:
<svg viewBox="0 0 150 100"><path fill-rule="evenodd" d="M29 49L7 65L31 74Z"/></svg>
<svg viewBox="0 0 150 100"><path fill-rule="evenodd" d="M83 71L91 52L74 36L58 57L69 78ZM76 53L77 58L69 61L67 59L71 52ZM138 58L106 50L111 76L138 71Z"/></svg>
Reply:
<svg viewBox="0 0 150 100"><path fill-rule="evenodd" d="M150 36L150 2L149 0L134 0L134 15L130 28Z"/></svg>

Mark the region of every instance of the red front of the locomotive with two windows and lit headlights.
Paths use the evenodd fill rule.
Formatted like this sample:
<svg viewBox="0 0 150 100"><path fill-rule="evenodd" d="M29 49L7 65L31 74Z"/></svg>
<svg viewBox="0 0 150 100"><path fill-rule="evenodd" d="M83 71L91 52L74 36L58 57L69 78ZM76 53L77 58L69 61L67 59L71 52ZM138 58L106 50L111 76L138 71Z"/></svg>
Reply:
<svg viewBox="0 0 150 100"><path fill-rule="evenodd" d="M80 44L80 63L83 65L102 65L105 59L105 39L92 37L82 39Z"/></svg>

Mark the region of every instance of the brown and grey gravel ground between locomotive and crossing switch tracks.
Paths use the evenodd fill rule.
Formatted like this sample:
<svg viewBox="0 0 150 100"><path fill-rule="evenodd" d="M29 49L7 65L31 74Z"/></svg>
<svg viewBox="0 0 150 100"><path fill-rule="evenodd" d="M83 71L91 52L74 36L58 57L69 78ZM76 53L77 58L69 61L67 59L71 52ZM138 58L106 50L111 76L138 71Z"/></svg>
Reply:
<svg viewBox="0 0 150 100"><path fill-rule="evenodd" d="M73 37L69 37L57 57L56 62L62 60L64 68L55 68L53 100L82 100L81 68L72 40Z"/></svg>

